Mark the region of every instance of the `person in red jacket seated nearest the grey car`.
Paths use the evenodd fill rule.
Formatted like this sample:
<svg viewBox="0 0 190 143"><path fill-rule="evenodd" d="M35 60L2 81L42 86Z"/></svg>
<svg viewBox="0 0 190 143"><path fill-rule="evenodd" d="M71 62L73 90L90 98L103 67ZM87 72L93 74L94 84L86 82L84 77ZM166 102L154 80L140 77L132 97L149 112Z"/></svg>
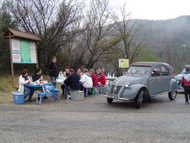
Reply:
<svg viewBox="0 0 190 143"><path fill-rule="evenodd" d="M104 88L106 85L106 75L104 72L99 68L96 70L96 76L98 79L98 87L99 87L99 94L104 94Z"/></svg>

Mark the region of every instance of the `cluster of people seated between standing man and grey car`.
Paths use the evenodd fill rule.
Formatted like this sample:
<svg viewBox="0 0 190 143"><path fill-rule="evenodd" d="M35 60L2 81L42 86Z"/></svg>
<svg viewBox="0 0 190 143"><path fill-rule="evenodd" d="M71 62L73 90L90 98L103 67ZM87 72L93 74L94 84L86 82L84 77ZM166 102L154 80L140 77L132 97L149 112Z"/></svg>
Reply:
<svg viewBox="0 0 190 143"><path fill-rule="evenodd" d="M106 76L102 69L73 69L65 68L66 79L62 84L62 95L68 98L70 91L82 90L84 97L94 90L98 94L103 94L106 85Z"/></svg>

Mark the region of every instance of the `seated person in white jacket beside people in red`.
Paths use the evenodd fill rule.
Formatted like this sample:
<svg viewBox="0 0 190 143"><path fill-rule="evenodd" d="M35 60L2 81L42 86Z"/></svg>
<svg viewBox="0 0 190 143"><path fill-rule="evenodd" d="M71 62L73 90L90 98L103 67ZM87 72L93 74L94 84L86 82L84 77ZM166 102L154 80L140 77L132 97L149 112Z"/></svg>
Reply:
<svg viewBox="0 0 190 143"><path fill-rule="evenodd" d="M93 87L93 81L91 76L88 74L87 69L83 69L83 72L81 72L81 79L80 82L82 83L82 86L84 88L84 96L88 96L88 89Z"/></svg>

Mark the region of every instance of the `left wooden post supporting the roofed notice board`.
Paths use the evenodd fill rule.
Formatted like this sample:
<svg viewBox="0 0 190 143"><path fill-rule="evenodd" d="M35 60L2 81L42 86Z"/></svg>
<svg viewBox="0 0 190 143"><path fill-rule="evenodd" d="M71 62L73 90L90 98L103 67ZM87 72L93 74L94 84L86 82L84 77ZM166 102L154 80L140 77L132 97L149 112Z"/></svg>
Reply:
<svg viewBox="0 0 190 143"><path fill-rule="evenodd" d="M12 78L12 86L15 86L15 78L14 78L14 64L12 58L12 43L11 43L11 33L9 33L9 49L10 49L10 64L11 64L11 78Z"/></svg>

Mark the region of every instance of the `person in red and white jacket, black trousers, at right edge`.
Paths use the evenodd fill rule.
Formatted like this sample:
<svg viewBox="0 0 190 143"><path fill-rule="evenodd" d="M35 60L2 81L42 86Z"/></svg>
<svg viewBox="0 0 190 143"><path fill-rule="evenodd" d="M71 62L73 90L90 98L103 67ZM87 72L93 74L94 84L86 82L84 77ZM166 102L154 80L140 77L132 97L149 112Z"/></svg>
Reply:
<svg viewBox="0 0 190 143"><path fill-rule="evenodd" d="M181 84L184 88L185 104L189 104L189 98L190 98L190 69L189 68L186 68L186 73L181 79Z"/></svg>

